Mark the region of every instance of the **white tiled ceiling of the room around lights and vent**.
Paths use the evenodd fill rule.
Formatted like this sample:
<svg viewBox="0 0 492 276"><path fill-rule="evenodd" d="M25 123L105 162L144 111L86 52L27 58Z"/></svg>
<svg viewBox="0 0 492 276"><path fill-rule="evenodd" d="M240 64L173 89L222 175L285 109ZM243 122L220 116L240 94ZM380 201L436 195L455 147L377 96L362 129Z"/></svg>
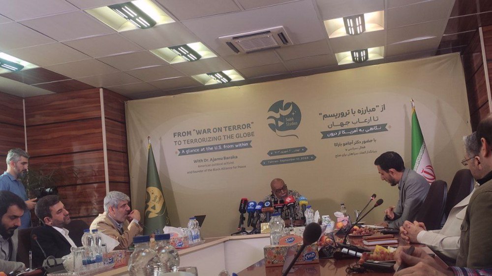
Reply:
<svg viewBox="0 0 492 276"><path fill-rule="evenodd" d="M459 52L479 26L492 24L490 0L148 0L169 23L120 31L92 16L94 8L127 1L0 0L0 53L37 66L0 69L0 91L29 97L104 87L129 98L195 92ZM366 14L368 30L335 30L338 18L358 14ZM236 54L219 39L276 27L292 45ZM209 49L198 61L175 63L151 52L196 42ZM365 48L374 54L362 63L339 54ZM214 82L207 73L228 70L236 71L233 81L205 85Z"/></svg>

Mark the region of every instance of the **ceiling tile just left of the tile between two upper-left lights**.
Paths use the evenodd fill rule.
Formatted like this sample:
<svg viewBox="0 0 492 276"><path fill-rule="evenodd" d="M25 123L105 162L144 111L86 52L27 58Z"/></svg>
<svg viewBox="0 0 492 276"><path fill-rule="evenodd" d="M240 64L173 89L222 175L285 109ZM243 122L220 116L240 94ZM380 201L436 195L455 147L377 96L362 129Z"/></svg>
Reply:
<svg viewBox="0 0 492 276"><path fill-rule="evenodd" d="M70 40L63 43L93 58L144 50L118 33Z"/></svg>

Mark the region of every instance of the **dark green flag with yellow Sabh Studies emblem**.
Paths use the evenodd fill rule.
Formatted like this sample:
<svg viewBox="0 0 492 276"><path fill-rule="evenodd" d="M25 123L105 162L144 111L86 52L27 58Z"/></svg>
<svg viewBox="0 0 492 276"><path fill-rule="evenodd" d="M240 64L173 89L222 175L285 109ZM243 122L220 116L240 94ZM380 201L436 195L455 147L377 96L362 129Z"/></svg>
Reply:
<svg viewBox="0 0 492 276"><path fill-rule="evenodd" d="M155 165L154 153L149 143L149 159L147 161L147 193L145 197L144 235L150 235L155 230L162 233L164 226L169 225L166 202L162 194L159 173Z"/></svg>

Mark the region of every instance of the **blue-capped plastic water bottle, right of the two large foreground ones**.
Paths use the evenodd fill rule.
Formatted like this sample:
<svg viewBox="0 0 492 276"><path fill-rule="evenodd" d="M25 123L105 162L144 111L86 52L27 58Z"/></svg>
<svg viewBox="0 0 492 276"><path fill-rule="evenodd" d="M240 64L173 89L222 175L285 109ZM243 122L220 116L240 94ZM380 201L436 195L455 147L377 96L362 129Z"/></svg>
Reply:
<svg viewBox="0 0 492 276"><path fill-rule="evenodd" d="M170 238L169 234L155 235L155 251L160 259L161 273L176 272L180 267L178 250L169 244Z"/></svg>

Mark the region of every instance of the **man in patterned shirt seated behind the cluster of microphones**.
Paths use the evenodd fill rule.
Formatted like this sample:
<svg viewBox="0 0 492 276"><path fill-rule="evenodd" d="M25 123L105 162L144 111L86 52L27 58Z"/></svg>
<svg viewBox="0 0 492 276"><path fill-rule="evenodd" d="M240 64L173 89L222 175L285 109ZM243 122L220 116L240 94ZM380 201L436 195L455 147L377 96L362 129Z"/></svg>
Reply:
<svg viewBox="0 0 492 276"><path fill-rule="evenodd" d="M289 195L293 196L296 199L296 203L294 205L294 214L292 215L292 220L294 226L303 226L304 225L304 214L303 210L299 206L299 198L302 195L296 190L287 189L287 184L283 182L283 180L276 178L272 180L270 183L270 187L272 188L272 194L265 196L263 202L270 200L272 203L274 200L285 200L285 198ZM285 226L290 225L290 210L287 206L283 206L282 214L280 215L282 219L285 221ZM266 215L261 214L260 221L258 222L266 222Z"/></svg>

